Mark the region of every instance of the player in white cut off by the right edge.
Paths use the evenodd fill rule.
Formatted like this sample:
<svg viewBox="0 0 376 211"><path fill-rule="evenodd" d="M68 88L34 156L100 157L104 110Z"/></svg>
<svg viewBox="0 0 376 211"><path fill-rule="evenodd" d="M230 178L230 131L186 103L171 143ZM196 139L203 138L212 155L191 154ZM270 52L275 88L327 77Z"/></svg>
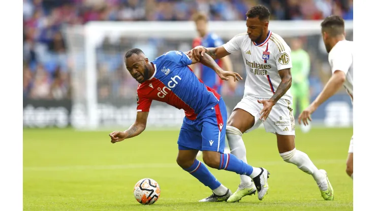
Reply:
<svg viewBox="0 0 376 211"><path fill-rule="evenodd" d="M299 124L308 124L310 114L333 96L342 86L346 88L353 102L353 42L347 41L344 32L344 21L341 17L333 15L324 19L321 23L321 31L326 51L329 53L329 64L332 77L325 85L323 91L317 96L307 109L298 118ZM349 155L346 172L353 179L353 137L350 140Z"/></svg>

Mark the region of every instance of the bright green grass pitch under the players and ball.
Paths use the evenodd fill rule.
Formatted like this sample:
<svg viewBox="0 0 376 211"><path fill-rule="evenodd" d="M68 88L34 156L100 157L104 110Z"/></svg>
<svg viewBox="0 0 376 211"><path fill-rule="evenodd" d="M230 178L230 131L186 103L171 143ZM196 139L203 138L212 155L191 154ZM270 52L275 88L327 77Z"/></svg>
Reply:
<svg viewBox="0 0 376 211"><path fill-rule="evenodd" d="M279 157L275 135L244 134L248 163L270 171L270 189L263 201L246 196L239 203L198 202L211 191L176 164L178 131L146 129L117 144L110 132L24 129L24 210L353 210L353 181L345 172L352 128L297 131L296 148L328 172L334 201L324 201L310 175ZM210 171L236 191L237 174ZM142 178L159 183L155 204L135 200L133 187Z"/></svg>

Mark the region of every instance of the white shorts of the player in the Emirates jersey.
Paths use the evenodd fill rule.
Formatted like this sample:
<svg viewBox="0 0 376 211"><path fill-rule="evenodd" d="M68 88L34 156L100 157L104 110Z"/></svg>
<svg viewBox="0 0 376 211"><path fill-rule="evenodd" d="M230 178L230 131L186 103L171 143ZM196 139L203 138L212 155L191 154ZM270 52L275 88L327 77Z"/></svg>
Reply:
<svg viewBox="0 0 376 211"><path fill-rule="evenodd" d="M291 108L291 100L279 99L271 109L268 118L263 122L260 120L260 112L264 108L264 105L259 103L258 99L261 98L246 95L234 108L234 110L242 109L255 117L255 125L245 132L257 129L261 123L264 123L266 132L278 133L280 135L295 135L295 119L293 109Z"/></svg>

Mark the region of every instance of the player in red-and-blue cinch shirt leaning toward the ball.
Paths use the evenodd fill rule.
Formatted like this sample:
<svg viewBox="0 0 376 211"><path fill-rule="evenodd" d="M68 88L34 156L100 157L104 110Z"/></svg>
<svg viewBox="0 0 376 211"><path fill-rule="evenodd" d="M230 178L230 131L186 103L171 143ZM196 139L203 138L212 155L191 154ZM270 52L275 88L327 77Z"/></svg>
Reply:
<svg viewBox="0 0 376 211"><path fill-rule="evenodd" d="M209 167L245 174L256 180L267 180L260 178L263 177L262 174L257 175L254 167L236 156L224 154L226 105L221 95L205 86L188 66L198 60L191 59L181 51L169 51L150 62L136 48L127 52L125 61L132 77L140 83L137 89L137 117L128 130L110 133L111 143L134 137L144 131L151 101L158 100L185 111L177 140L179 152L176 161L181 168L212 190L213 194L200 200L201 202L226 201L232 193L196 159L199 150L203 152L203 161ZM229 76L241 79L236 73L223 71L206 54L200 57L200 62L212 68L221 79L228 80ZM255 192L256 190L252 191Z"/></svg>

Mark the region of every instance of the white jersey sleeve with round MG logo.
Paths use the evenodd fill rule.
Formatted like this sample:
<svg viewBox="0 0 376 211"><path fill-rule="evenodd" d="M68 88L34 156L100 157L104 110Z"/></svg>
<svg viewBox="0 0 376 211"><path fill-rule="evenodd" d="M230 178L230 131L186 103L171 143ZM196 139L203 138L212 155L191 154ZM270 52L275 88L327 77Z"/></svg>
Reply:
<svg viewBox="0 0 376 211"><path fill-rule="evenodd" d="M272 49L272 53L277 64L277 70L280 71L282 69L292 68L291 49L285 40L275 33L270 37L270 40L272 40L276 46L276 48Z"/></svg>

